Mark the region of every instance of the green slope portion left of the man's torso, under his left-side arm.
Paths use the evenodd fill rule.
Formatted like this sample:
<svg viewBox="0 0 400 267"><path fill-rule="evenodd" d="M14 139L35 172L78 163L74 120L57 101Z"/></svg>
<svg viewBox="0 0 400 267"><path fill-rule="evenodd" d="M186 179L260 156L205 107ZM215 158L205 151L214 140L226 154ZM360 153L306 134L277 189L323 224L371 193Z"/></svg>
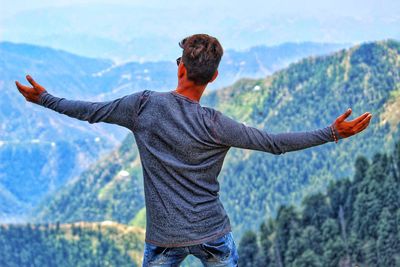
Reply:
<svg viewBox="0 0 400 267"><path fill-rule="evenodd" d="M128 223L127 218L133 218L143 207L141 175L138 149L133 135L129 134L117 151L67 183L61 192L50 195L40 209L60 222L116 220ZM75 197L68 195L72 192Z"/></svg>

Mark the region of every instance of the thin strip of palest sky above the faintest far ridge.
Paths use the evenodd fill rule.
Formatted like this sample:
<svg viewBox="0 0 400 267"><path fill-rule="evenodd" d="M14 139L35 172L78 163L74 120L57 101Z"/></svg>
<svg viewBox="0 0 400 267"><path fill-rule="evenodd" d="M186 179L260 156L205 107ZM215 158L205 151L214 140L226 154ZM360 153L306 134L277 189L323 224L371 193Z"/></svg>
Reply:
<svg viewBox="0 0 400 267"><path fill-rule="evenodd" d="M202 1L177 1L177 0L1 0L2 9L6 15L15 14L19 11L37 9L44 7L65 7L81 4L123 4L129 6L147 6L159 8L199 8L208 7L220 12L234 12L236 15L254 13L263 15L303 15L303 16L351 16L359 19L371 19L389 17L399 19L400 1L398 0L202 0ZM4 11L2 12L4 15Z"/></svg>

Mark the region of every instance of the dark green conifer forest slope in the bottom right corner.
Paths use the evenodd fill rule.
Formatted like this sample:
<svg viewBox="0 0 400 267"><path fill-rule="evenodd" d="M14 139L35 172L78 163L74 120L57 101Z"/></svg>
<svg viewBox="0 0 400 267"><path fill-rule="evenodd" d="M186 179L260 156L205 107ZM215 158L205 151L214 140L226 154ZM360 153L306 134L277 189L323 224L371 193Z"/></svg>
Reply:
<svg viewBox="0 0 400 267"><path fill-rule="evenodd" d="M400 266L399 188L400 141L371 161L358 157L352 179L307 195L301 209L281 206L257 233L246 232L239 265Z"/></svg>

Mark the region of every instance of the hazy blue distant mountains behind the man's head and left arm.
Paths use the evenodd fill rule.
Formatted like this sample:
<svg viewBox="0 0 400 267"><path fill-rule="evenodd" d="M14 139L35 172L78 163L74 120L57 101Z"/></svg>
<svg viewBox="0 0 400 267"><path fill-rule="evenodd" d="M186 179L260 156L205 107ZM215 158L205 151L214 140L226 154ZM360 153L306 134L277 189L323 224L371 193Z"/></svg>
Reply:
<svg viewBox="0 0 400 267"><path fill-rule="evenodd" d="M243 76L264 76L302 56L338 47L304 43L228 50L215 88ZM23 81L29 73L56 96L90 101L176 86L174 59L114 65L109 60L9 42L0 42L0 71L0 222L24 220L43 196L77 176L128 132L107 124L90 125L26 103L15 80Z"/></svg>

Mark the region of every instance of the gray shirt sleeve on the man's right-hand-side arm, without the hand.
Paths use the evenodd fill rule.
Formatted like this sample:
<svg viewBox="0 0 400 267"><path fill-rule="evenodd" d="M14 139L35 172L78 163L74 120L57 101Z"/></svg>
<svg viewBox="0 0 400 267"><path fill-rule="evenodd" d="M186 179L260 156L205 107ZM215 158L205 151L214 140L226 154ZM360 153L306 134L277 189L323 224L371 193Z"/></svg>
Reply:
<svg viewBox="0 0 400 267"><path fill-rule="evenodd" d="M211 125L220 145L283 154L334 141L330 126L306 132L271 134L239 123L215 111Z"/></svg>

